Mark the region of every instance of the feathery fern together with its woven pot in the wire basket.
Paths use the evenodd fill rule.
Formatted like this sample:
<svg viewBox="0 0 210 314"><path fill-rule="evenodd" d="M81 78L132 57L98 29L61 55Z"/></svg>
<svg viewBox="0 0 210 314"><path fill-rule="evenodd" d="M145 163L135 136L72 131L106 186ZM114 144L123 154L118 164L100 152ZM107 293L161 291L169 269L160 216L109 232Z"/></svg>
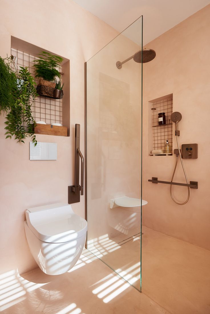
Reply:
<svg viewBox="0 0 210 314"><path fill-rule="evenodd" d="M54 97L55 78L61 78L58 68L63 58L42 51L39 59L34 60L35 78L39 78L37 93L47 97Z"/></svg>

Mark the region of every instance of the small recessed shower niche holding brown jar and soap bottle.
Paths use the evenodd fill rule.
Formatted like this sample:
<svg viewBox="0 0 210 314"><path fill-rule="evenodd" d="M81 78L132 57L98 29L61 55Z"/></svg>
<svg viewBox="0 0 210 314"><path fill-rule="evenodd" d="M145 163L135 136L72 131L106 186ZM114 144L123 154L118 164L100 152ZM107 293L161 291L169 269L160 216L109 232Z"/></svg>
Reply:
<svg viewBox="0 0 210 314"><path fill-rule="evenodd" d="M149 154L151 156L172 155L173 152L173 94L162 96L149 101ZM158 124L158 113L165 112L166 124ZM171 153L164 153L166 140L171 145ZM163 153L152 154L153 150L162 149Z"/></svg>

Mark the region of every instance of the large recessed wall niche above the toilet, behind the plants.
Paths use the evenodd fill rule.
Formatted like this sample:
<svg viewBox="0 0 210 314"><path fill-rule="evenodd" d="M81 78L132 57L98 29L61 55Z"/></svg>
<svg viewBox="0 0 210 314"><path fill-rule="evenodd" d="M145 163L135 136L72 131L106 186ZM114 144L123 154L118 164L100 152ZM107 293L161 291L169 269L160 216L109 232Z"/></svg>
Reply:
<svg viewBox="0 0 210 314"><path fill-rule="evenodd" d="M35 76L33 61L38 59L38 54L41 53L41 51L47 51L56 55L53 51L48 51L44 48L32 45L26 41L22 41L11 36L11 55L16 57L15 67L17 70L19 70L20 67L28 67L31 75ZM36 122L41 120L45 122L47 126L37 124L38 128L35 128L35 133L52 135L65 134L66 136L66 128L65 130L61 130L63 129L62 127L50 127L52 123L60 123L64 127L67 127L67 136L70 136L70 61L65 57L62 58L64 60L58 70L62 73L61 81L64 83L63 98L51 99L43 96L37 97L32 108L34 120ZM36 78L35 81L38 85L38 78Z"/></svg>

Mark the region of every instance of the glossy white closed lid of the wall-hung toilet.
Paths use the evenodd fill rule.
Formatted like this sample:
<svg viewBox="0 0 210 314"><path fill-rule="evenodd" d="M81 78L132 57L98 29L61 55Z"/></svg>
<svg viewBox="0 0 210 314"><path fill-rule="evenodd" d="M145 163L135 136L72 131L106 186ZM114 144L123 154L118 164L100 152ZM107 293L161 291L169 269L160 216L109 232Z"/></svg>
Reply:
<svg viewBox="0 0 210 314"><path fill-rule="evenodd" d="M63 243L76 240L87 232L87 221L76 215L71 205L59 203L57 207L51 207L26 210L27 224L39 240Z"/></svg>

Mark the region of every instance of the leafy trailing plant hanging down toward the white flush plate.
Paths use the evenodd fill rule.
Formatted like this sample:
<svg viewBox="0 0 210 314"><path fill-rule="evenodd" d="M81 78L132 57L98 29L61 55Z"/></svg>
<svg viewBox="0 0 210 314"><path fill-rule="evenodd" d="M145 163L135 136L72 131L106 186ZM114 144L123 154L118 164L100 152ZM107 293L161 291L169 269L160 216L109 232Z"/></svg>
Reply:
<svg viewBox="0 0 210 314"><path fill-rule="evenodd" d="M5 129L7 131L5 135L7 135L6 138L12 138L14 135L15 139L22 143L24 143L24 138L30 136L36 146L37 141L34 134L36 122L31 112L31 106L37 97L34 87L35 79L31 76L27 67L20 67L17 78L21 81L21 86L17 88L16 85L14 91L15 102L6 116Z"/></svg>

